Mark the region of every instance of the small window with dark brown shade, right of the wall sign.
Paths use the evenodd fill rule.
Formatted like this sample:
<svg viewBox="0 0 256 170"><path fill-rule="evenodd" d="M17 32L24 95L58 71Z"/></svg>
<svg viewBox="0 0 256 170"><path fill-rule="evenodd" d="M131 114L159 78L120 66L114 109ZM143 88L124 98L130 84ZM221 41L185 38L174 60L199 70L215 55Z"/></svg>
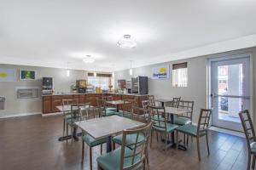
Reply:
<svg viewBox="0 0 256 170"><path fill-rule="evenodd" d="M187 87L188 86L188 64L179 63L172 65L172 86Z"/></svg>

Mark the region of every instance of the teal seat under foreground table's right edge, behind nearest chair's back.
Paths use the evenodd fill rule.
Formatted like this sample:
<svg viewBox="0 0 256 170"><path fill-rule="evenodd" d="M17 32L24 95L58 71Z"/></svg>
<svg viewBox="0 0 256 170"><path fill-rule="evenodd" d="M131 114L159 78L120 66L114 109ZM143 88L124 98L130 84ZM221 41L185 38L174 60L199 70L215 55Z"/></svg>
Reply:
<svg viewBox="0 0 256 170"><path fill-rule="evenodd" d="M128 134L126 136L126 146L133 149L134 148L134 145L135 142L136 142L136 139L137 139L137 134ZM122 144L122 141L123 141L123 135L122 134L119 134L115 137L113 137L113 142L114 143L117 143L117 144ZM138 135L138 140L137 142L140 143L144 140L144 136L143 134L140 134Z"/></svg>

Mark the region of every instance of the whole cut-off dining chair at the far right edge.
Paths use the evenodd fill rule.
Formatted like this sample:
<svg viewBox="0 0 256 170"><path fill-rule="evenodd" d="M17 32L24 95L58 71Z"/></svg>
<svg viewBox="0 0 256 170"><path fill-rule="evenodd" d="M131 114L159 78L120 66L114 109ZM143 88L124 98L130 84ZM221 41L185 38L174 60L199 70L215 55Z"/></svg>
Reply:
<svg viewBox="0 0 256 170"><path fill-rule="evenodd" d="M251 167L252 156L253 156L252 169L254 169L255 159L256 159L256 137L255 137L255 131L253 127L253 121L248 110L241 111L239 113L239 116L241 120L241 125L243 127L243 131L247 139L247 150L248 150L247 170L249 170Z"/></svg>

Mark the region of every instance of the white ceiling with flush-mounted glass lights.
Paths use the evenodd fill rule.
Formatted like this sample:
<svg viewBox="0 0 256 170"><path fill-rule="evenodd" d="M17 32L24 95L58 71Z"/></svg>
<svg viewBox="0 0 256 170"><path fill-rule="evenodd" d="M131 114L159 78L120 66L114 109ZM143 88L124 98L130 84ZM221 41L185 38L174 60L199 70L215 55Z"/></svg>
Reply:
<svg viewBox="0 0 256 170"><path fill-rule="evenodd" d="M256 46L255 0L0 0L0 63L117 71ZM116 45L131 34L137 47Z"/></svg>

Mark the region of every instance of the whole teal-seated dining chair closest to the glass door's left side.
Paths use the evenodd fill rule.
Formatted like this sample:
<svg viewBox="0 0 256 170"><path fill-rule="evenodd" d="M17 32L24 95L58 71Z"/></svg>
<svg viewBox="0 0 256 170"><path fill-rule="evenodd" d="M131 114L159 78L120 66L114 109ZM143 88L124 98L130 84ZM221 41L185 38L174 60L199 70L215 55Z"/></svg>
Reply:
<svg viewBox="0 0 256 170"><path fill-rule="evenodd" d="M207 151L208 151L208 156L210 155L210 149L209 149L209 144L208 144L208 127L209 127L209 122L211 119L212 111L209 109L201 109L200 111L200 116L198 120L197 126L192 125L192 124L186 124L180 127L176 128L176 144L178 147L178 133L184 133L187 134L191 137L196 138L196 144L197 144L197 153L198 153L198 159L201 161L201 153L200 153L200 142L199 139L203 136L206 136L207 139Z"/></svg>

